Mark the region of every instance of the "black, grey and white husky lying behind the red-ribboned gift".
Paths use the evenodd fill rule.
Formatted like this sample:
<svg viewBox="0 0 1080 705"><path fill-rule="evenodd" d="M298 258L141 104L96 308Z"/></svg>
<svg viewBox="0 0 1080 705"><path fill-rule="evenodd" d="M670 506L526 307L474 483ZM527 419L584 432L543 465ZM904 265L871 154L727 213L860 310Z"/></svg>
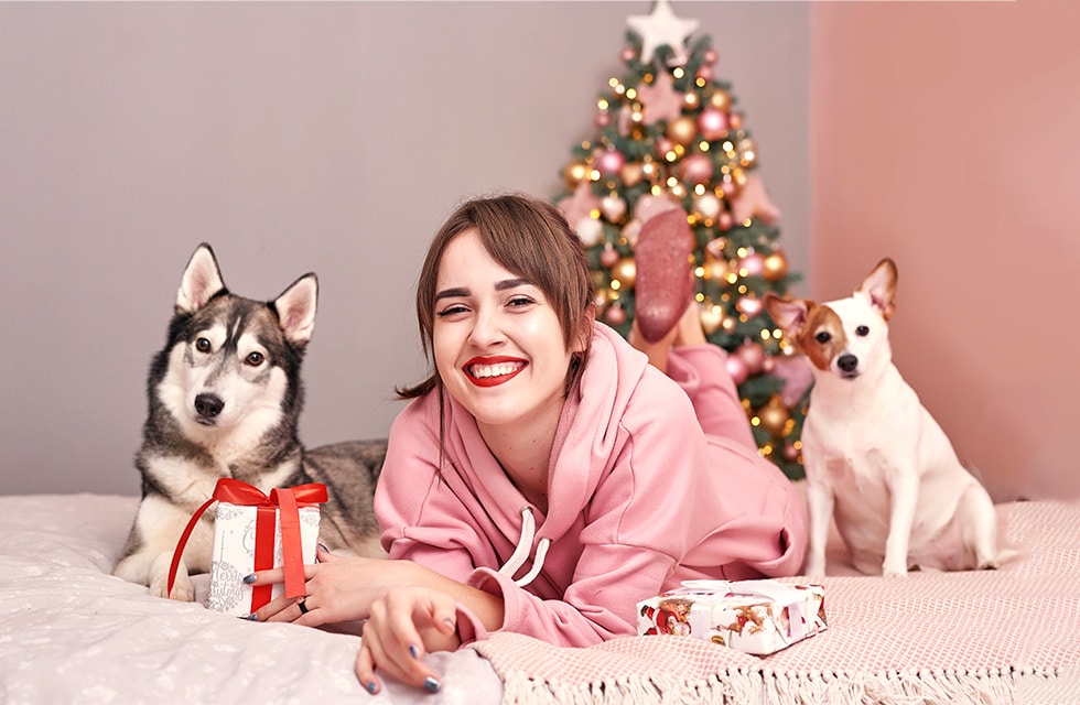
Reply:
<svg viewBox="0 0 1080 705"><path fill-rule="evenodd" d="M315 274L258 302L233 294L208 245L192 256L176 294L168 341L153 358L149 413L136 466L142 501L114 574L159 597L191 600L188 576L210 570L212 512L192 532L172 595L169 565L184 527L233 477L263 492L323 482L320 541L332 551L385 556L371 509L386 443L347 442L305 451L300 364L315 323Z"/></svg>

